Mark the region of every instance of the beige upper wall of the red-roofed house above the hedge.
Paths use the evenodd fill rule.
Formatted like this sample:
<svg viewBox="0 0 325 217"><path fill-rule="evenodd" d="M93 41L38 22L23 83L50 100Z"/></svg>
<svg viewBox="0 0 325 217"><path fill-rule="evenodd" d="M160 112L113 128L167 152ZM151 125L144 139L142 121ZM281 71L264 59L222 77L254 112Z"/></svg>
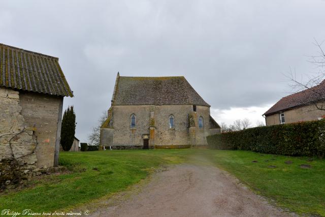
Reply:
<svg viewBox="0 0 325 217"><path fill-rule="evenodd" d="M298 121L318 120L325 115L324 110L317 110L315 106L301 106L295 109L289 109L283 112L285 123L294 123ZM280 113L266 116L266 125L279 125Z"/></svg>

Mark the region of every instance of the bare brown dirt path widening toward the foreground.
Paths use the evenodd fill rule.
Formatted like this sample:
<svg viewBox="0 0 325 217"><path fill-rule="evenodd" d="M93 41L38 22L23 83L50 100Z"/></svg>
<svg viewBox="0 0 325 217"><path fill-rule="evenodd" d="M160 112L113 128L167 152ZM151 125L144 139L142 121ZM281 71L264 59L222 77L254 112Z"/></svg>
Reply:
<svg viewBox="0 0 325 217"><path fill-rule="evenodd" d="M90 216L288 216L216 167L181 164L153 175L140 193Z"/></svg>

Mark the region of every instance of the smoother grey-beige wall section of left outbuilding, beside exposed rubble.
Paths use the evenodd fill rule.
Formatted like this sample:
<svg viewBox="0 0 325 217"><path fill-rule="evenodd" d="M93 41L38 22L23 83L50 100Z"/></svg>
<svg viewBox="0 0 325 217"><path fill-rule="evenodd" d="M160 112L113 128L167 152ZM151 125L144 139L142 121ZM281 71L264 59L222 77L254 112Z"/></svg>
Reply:
<svg viewBox="0 0 325 217"><path fill-rule="evenodd" d="M36 148L37 167L52 167L58 113L63 97L20 92L20 104L26 125L35 129L38 146Z"/></svg>

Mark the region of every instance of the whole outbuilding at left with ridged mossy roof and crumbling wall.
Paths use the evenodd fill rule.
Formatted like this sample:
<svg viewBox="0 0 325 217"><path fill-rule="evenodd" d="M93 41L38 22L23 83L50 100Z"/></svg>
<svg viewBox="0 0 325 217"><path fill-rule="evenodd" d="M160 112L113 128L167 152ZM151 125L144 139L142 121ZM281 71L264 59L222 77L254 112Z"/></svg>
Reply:
<svg viewBox="0 0 325 217"><path fill-rule="evenodd" d="M57 57L0 44L0 184L57 164L66 96Z"/></svg>

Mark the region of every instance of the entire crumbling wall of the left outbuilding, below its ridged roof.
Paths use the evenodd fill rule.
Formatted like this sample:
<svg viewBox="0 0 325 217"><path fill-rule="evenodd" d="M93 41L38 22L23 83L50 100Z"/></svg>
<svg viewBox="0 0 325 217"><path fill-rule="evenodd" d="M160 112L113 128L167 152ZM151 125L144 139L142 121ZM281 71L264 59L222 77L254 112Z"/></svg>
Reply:
<svg viewBox="0 0 325 217"><path fill-rule="evenodd" d="M53 167L62 100L0 87L0 179L13 180L14 171L28 178Z"/></svg>

